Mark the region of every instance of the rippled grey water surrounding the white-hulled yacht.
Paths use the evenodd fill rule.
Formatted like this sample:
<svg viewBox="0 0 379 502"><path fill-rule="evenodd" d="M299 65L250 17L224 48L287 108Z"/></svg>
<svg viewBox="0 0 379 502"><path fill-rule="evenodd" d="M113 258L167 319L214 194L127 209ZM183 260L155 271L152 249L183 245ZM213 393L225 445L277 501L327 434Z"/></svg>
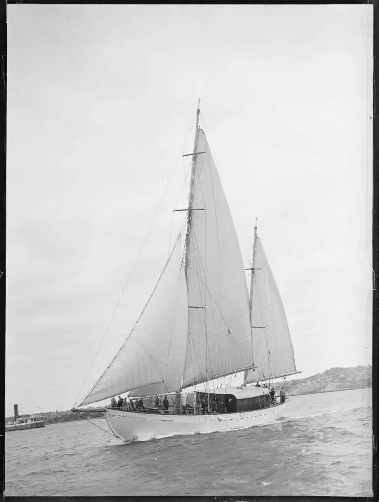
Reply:
<svg viewBox="0 0 379 502"><path fill-rule="evenodd" d="M295 396L271 425L130 444L82 421L11 432L5 494L370 496L370 404Z"/></svg>

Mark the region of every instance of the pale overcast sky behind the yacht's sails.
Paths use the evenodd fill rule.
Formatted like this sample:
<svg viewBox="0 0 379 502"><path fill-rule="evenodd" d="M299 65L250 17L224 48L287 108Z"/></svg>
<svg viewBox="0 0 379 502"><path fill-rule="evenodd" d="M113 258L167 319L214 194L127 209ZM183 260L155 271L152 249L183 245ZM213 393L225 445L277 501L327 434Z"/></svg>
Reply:
<svg viewBox="0 0 379 502"><path fill-rule="evenodd" d="M300 376L371 362L372 6L10 5L7 416L72 408L130 331L183 222L199 97Z"/></svg>

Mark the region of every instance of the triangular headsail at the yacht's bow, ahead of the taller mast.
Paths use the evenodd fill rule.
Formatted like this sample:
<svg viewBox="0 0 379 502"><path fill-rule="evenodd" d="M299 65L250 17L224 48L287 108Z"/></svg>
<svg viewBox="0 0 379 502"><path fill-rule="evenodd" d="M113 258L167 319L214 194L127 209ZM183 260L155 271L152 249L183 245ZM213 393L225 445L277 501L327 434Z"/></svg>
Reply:
<svg viewBox="0 0 379 502"><path fill-rule="evenodd" d="M151 384L178 390L186 336L187 292L178 239L140 318L81 405Z"/></svg>

